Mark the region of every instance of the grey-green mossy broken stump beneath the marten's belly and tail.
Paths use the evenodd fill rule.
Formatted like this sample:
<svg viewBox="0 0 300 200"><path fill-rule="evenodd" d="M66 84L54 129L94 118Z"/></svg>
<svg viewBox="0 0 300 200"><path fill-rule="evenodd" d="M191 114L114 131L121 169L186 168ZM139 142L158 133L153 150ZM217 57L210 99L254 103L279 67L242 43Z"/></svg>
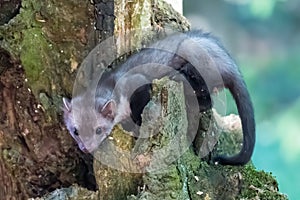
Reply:
<svg viewBox="0 0 300 200"><path fill-rule="evenodd" d="M144 191L136 196L130 196L128 199L287 199L278 192L274 177L265 172L257 171L251 164L246 166L215 165L201 160L192 148L186 148L177 159L170 159L170 155L176 155L176 151L182 150L184 147L186 138L183 135L177 138L180 141L179 143L172 143L176 148L170 147L174 154L170 154L168 151L160 151L166 149L170 141L181 131L185 133L187 131L187 127L184 125L187 122L186 111L183 109L185 104L182 101L184 99L182 94L183 90L178 83L168 82L166 79L155 82L152 101L154 101L154 105L158 102L162 103L161 117L155 123L156 126L157 124L163 124L163 126L161 129L158 128L159 131L156 132L156 135L142 140L144 143L141 145L140 150L144 151L143 155L150 154L152 160L146 166L146 173L143 175ZM145 110L147 112L147 108ZM145 110L144 116L147 114ZM148 117L148 115L149 113L146 116ZM216 129L208 128L211 126L211 115L204 114L203 116L210 120L200 117L202 120L200 123L202 133L205 132L205 135L211 135L212 132L217 134ZM143 129L142 124L142 131L149 131L149 127L147 128ZM155 125L152 129L155 129ZM151 128L150 133L154 133ZM238 143L241 139L239 135L226 133L222 135L222 138L220 142L224 142L224 144L215 147L214 154L225 150L226 152L235 153L238 150L238 145L234 145L229 149L226 149L226 147L229 147L230 143ZM214 140L213 137L212 139ZM145 148L145 146L148 148ZM222 151L217 150L218 148L222 148ZM155 159L159 158L155 157L156 152L160 152L160 156L164 154L165 159L156 161Z"/></svg>

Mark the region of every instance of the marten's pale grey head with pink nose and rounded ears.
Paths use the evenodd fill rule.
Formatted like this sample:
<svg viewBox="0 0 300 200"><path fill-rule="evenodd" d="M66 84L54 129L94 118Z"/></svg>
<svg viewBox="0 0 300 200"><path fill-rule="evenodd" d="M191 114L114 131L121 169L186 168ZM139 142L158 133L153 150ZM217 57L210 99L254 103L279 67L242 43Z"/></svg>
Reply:
<svg viewBox="0 0 300 200"><path fill-rule="evenodd" d="M115 125L115 101L108 100L103 106L95 107L95 103L79 96L72 100L63 98L63 105L65 125L71 136L80 150L92 153Z"/></svg>

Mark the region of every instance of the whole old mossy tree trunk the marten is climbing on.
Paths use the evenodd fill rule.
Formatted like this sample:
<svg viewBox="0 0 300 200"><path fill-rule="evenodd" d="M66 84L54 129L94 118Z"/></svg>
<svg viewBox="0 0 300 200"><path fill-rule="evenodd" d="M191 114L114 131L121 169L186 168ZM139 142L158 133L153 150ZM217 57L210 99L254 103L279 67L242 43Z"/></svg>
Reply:
<svg viewBox="0 0 300 200"><path fill-rule="evenodd" d="M0 6L5 14L0 18L0 199L285 199L270 175L250 165L209 165L193 148L184 146L188 122L179 83L162 79L154 84L150 103L163 106L158 123L164 126L158 137L136 140L117 126L112 139L101 146L108 149L93 158L82 153L67 132L62 97L71 97L83 59L111 36L122 62L124 54L152 40L151 31L187 31L189 23L169 4L162 0L15 0L0 1ZM144 118L152 113L149 105ZM220 132L211 111L201 116L198 143L203 142L203 134L212 135L207 128L211 123ZM151 131L143 127L142 134ZM170 162L151 162L176 131L181 133L177 145L186 148L185 153ZM135 158L101 154L112 146L121 152L133 149ZM101 156L115 159L123 171L99 162ZM153 170L158 167L164 167L159 174Z"/></svg>

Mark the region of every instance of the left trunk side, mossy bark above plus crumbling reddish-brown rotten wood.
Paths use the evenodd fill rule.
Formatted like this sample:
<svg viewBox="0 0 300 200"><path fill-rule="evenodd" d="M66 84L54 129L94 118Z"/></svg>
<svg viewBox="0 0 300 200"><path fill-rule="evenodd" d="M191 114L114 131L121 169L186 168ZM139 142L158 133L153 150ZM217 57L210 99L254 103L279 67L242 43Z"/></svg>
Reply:
<svg viewBox="0 0 300 200"><path fill-rule="evenodd" d="M90 160L78 152L60 115L61 97L70 96L74 71L93 47L91 7L83 0L22 0L19 14L0 26L1 50L11 61L0 68L1 91L8 91L6 99L0 95L1 167L11 183L4 196L28 199L75 182L95 188Z"/></svg>

